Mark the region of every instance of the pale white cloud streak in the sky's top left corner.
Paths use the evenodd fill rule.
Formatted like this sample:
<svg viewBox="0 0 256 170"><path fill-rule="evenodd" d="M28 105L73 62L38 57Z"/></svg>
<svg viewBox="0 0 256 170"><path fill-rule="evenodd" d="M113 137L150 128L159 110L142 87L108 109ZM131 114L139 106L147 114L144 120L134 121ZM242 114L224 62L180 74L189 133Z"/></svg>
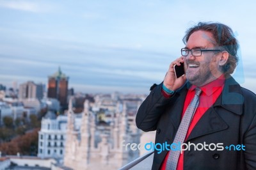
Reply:
<svg viewBox="0 0 256 170"><path fill-rule="evenodd" d="M36 4L28 1L0 1L0 6L3 8L10 8L13 10L21 10L26 12L44 12L47 8L42 4ZM49 8L48 8L49 9Z"/></svg>

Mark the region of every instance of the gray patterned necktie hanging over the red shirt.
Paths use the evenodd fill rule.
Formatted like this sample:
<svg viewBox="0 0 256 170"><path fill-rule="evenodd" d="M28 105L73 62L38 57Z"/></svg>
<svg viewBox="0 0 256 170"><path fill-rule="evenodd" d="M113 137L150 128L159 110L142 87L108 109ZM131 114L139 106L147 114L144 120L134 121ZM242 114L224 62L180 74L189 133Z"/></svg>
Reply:
<svg viewBox="0 0 256 170"><path fill-rule="evenodd" d="M188 108L186 109L186 112L184 113L184 116L180 122L178 131L177 131L177 134L175 135L173 143L175 143L175 144L184 143L186 134L188 132L189 124L190 124L190 122L195 114L196 108L198 107L198 104L199 104L199 95L200 95L201 91L202 90L200 88L196 88L195 97L190 102L190 104L188 105ZM166 170L176 170L179 156L180 156L179 150L177 150L177 151L170 150L170 154L169 154L167 164L166 164Z"/></svg>

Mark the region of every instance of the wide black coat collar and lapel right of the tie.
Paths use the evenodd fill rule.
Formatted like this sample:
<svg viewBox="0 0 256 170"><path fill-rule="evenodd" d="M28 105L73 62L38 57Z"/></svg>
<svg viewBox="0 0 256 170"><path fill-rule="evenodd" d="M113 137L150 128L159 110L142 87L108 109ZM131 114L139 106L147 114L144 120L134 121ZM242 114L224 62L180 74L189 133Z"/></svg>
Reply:
<svg viewBox="0 0 256 170"><path fill-rule="evenodd" d="M219 116L220 113L214 110L214 107L217 106L223 107L223 109L233 112L234 114L241 115L243 113L243 94L241 87L232 77L226 79L220 97L218 97L214 105L212 105L212 107L204 113L202 118L200 118L198 123L196 123L186 141L228 128L227 123ZM225 114L225 112L223 114Z"/></svg>

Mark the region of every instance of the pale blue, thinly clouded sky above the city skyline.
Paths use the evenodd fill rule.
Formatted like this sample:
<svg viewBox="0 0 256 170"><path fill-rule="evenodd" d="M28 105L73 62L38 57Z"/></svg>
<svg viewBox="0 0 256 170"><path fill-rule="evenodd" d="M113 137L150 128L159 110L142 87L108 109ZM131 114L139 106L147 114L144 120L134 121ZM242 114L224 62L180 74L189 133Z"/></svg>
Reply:
<svg viewBox="0 0 256 170"><path fill-rule="evenodd" d="M186 29L213 21L233 29L240 43L234 77L255 93L255 5L219 0L0 0L0 84L47 84L60 66L75 92L147 94L180 57Z"/></svg>

